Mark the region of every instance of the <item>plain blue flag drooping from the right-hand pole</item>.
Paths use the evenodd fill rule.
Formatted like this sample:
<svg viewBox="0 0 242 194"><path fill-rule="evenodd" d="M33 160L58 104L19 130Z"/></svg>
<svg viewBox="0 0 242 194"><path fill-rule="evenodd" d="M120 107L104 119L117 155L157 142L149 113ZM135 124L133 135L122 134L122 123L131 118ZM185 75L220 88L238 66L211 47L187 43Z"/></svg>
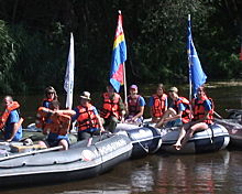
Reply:
<svg viewBox="0 0 242 194"><path fill-rule="evenodd" d="M194 95L197 94L197 88L206 83L207 76L202 71L197 51L191 37L190 15L188 15L188 39L187 39L187 55L189 65L189 76L193 84Z"/></svg>

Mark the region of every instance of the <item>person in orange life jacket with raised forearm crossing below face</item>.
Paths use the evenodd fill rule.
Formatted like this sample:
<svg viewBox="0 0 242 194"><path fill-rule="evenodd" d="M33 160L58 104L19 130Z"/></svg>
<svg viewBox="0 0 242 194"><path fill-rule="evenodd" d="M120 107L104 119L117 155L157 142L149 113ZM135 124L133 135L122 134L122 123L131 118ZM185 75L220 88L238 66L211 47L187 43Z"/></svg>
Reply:
<svg viewBox="0 0 242 194"><path fill-rule="evenodd" d="M47 134L47 139L44 141L38 141L38 144L45 148L53 148L57 146L63 146L61 150L68 150L69 147L69 136L68 130L70 127L72 116L76 112L70 109L59 109L61 104L58 100L52 100L48 104L50 111L48 117L40 118L43 119L43 133ZM42 107L41 107L42 108ZM43 109L43 111L48 111L48 108Z"/></svg>

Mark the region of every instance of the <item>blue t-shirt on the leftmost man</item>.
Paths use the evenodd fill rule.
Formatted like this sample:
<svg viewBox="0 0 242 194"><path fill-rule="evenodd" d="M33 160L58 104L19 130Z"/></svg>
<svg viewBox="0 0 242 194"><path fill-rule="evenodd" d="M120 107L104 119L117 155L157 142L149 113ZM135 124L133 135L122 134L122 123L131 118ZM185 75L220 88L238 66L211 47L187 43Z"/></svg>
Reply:
<svg viewBox="0 0 242 194"><path fill-rule="evenodd" d="M6 130L4 130L4 138L6 139L10 139L12 136L12 130L13 130L13 123L16 123L20 121L20 115L18 112L18 110L12 110L7 119L6 122ZM22 138L23 133L22 133L22 126L20 126L20 128L18 129L14 138L12 139L12 141L19 141Z"/></svg>

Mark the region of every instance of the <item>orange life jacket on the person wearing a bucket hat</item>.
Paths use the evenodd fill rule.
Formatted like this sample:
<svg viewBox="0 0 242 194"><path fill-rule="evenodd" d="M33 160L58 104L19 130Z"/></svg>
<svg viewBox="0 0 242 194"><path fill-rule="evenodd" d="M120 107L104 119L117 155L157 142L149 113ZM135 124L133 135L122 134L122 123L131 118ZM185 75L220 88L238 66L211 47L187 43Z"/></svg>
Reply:
<svg viewBox="0 0 242 194"><path fill-rule="evenodd" d="M97 116L94 112L94 107L88 104L87 107L77 106L79 116L77 118L78 131L99 128Z"/></svg>

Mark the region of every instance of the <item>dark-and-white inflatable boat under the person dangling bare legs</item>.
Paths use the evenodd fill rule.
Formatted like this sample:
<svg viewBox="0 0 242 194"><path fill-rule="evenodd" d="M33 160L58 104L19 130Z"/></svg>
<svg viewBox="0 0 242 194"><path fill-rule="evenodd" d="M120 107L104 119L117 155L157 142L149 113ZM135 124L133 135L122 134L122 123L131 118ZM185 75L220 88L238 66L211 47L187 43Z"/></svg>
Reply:
<svg viewBox="0 0 242 194"><path fill-rule="evenodd" d="M213 123L207 130L196 132L193 138L177 151L173 144L175 144L178 139L179 129L180 127L162 129L164 133L162 137L162 151L173 153L215 152L224 149L230 142L228 130L219 123Z"/></svg>

